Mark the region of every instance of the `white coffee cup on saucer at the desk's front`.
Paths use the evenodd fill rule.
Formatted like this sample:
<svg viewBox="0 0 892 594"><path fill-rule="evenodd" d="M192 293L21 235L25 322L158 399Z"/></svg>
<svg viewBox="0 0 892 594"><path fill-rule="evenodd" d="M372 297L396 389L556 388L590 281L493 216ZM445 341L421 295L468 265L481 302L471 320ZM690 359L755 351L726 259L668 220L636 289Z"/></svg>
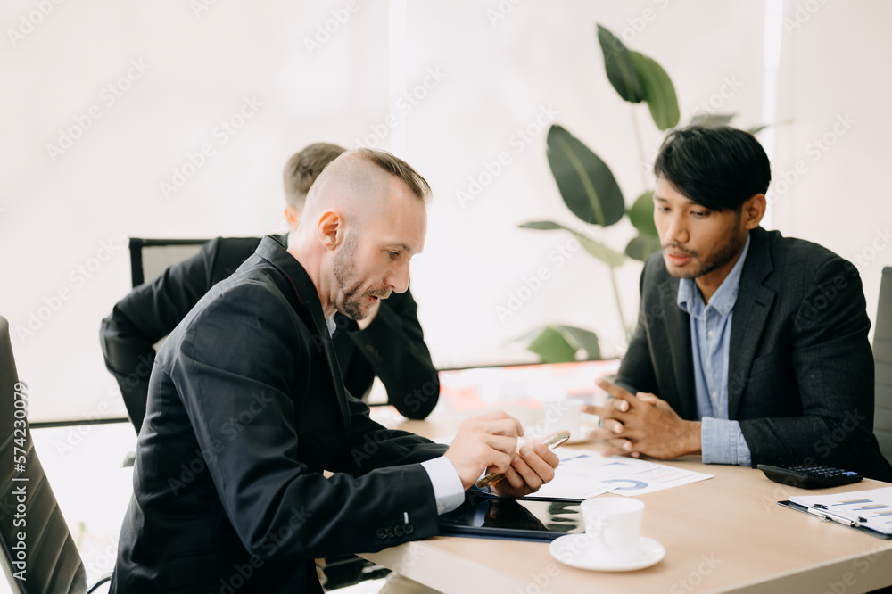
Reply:
<svg viewBox="0 0 892 594"><path fill-rule="evenodd" d="M593 497L582 501L585 554L605 563L628 563L639 556L644 503L639 499Z"/></svg>

